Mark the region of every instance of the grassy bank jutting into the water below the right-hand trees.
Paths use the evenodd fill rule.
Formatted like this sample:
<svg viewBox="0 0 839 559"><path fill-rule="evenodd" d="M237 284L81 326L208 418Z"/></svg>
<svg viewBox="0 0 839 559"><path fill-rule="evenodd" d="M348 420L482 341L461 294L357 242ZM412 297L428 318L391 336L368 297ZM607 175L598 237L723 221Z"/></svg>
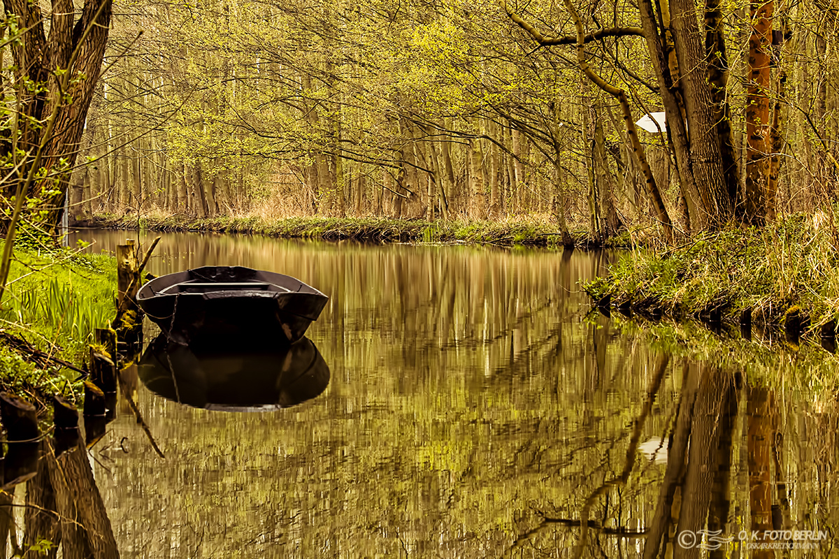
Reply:
<svg viewBox="0 0 839 559"><path fill-rule="evenodd" d="M585 288L598 303L652 316L833 328L839 232L834 216L819 213L700 234L675 248L628 252Z"/></svg>

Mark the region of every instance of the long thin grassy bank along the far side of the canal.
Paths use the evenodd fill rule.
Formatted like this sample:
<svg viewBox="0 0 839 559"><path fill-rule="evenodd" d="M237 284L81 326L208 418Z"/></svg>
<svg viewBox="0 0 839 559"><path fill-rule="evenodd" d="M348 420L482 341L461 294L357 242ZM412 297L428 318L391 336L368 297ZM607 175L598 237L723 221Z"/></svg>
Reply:
<svg viewBox="0 0 839 559"><path fill-rule="evenodd" d="M352 239L373 242L466 242L492 245L556 246L561 236L550 218L503 221L424 221L379 218L289 217L267 220L258 216L195 219L183 215L97 215L83 225L112 229L211 231L285 238ZM581 228L571 230L577 246L591 246ZM626 243L628 236L614 241Z"/></svg>

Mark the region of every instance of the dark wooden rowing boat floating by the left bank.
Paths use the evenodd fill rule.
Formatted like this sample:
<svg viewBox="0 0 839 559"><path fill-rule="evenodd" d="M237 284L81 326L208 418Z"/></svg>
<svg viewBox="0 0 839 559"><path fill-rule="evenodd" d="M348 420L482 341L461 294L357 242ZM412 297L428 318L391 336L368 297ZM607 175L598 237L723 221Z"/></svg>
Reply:
<svg viewBox="0 0 839 559"><path fill-rule="evenodd" d="M137 303L179 344L291 344L320 316L326 295L294 277L206 266L154 278Z"/></svg>

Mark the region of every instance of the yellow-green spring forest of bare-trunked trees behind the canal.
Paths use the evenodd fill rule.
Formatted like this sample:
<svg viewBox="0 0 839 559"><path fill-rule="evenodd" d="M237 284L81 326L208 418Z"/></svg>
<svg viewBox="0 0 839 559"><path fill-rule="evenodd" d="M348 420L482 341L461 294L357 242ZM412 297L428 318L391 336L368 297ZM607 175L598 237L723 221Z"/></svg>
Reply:
<svg viewBox="0 0 839 559"><path fill-rule="evenodd" d="M66 193L78 220L537 218L670 238L834 195L826 0L89 0L111 28L91 27L66 73L33 54L60 42L59 3L8 4L5 136L17 107L43 123L61 91L57 120L86 111L34 165L25 205L48 222ZM48 34L26 31L34 10ZM9 201L34 153L6 143Z"/></svg>

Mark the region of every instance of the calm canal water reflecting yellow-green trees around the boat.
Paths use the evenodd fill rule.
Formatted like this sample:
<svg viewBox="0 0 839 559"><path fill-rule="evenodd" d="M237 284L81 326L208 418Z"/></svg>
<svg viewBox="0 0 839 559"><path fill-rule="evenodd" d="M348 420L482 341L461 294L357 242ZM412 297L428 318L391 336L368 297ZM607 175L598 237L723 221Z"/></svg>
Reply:
<svg viewBox="0 0 839 559"><path fill-rule="evenodd" d="M825 369L809 379L794 349L687 358L661 349L665 329L651 345L590 312L581 282L610 255L162 237L154 274L242 265L326 293L307 337L328 375L251 412L138 382L164 458L126 404L90 454L123 558L623 558L651 539L670 548L649 556L836 553ZM763 536L795 549L748 549Z"/></svg>

